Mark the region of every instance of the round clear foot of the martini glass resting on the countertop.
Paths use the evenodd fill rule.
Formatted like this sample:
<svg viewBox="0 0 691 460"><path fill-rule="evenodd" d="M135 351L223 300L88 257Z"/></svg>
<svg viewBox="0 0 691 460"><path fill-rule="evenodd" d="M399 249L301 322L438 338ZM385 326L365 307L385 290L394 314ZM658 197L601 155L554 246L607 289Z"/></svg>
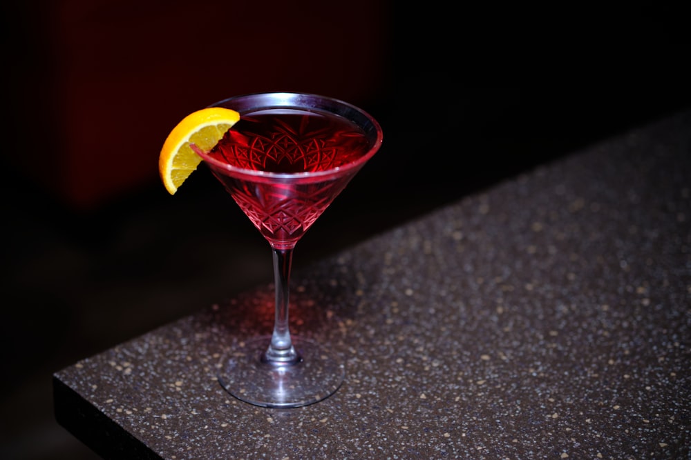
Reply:
<svg viewBox="0 0 691 460"><path fill-rule="evenodd" d="M218 382L240 401L266 408L297 408L330 397L345 378L345 366L311 340L291 338L299 363L277 366L261 355L271 337L252 339L225 359Z"/></svg>

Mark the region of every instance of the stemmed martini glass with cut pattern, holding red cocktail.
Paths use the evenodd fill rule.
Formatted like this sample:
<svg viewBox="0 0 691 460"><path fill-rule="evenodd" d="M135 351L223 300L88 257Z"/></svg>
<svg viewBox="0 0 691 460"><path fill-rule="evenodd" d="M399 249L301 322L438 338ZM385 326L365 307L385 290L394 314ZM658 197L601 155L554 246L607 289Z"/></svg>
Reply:
<svg viewBox="0 0 691 460"><path fill-rule="evenodd" d="M236 110L240 121L211 152L195 150L269 242L276 289L271 336L234 350L218 381L234 397L256 406L316 403L339 389L345 366L319 343L290 333L293 250L379 150L381 127L363 110L315 94L249 94L214 106Z"/></svg>

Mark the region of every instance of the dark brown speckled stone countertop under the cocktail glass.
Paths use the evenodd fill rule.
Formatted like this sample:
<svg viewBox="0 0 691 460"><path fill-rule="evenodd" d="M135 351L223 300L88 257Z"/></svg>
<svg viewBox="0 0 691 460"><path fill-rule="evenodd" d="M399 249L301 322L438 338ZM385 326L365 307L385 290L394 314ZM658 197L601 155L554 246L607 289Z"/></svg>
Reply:
<svg viewBox="0 0 691 460"><path fill-rule="evenodd" d="M258 408L215 377L270 286L54 376L106 458L691 455L691 113L600 143L296 272L293 332L334 396Z"/></svg>

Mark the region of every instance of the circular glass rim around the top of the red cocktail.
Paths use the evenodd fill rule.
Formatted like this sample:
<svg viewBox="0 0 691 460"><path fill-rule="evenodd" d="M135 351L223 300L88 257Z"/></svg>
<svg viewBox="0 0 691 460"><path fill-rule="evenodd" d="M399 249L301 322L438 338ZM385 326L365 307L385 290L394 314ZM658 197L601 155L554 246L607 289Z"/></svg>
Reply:
<svg viewBox="0 0 691 460"><path fill-rule="evenodd" d="M254 102L253 102L254 101ZM269 103L269 102L273 103ZM245 104L240 104L245 102ZM310 104L310 102L312 104ZM381 147L384 140L384 133L381 130L379 122L372 117L368 112L361 108L354 106L351 103L336 99L333 97L322 96L320 94L313 94L309 92L252 92L247 94L240 94L238 96L222 99L212 103L209 107L225 107L236 110L242 117L244 112L249 112L263 107L272 108L313 108L317 110L324 110L332 113L337 113L344 116L345 113L357 114L362 121L370 123L371 127L366 129L368 136L371 132L375 132L375 139L372 142L369 150L361 157L346 163L336 168L331 168L323 171L305 171L305 172L271 172L271 171L257 171L247 168L238 168L223 161L218 161L209 156L208 152L198 152L198 155L211 168L227 172L227 175L250 177L253 181L262 181L262 179L273 180L280 179L281 181L312 181L328 179L329 177L340 177L349 172L355 172L363 166ZM341 110L330 110L330 108L340 108ZM341 111L343 113L341 113ZM363 128L361 121L356 121L352 117L345 117L349 121L356 123L357 126Z"/></svg>

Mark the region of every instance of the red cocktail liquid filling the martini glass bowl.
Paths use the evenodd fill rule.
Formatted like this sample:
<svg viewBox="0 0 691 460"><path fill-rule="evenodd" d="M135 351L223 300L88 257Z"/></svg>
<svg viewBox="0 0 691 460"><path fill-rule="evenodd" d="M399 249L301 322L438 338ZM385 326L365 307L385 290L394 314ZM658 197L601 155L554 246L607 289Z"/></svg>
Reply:
<svg viewBox="0 0 691 460"><path fill-rule="evenodd" d="M276 248L291 247L359 168L314 177L363 157L366 134L343 117L317 110L261 109L242 115L210 156L247 172L214 170L254 226Z"/></svg>

